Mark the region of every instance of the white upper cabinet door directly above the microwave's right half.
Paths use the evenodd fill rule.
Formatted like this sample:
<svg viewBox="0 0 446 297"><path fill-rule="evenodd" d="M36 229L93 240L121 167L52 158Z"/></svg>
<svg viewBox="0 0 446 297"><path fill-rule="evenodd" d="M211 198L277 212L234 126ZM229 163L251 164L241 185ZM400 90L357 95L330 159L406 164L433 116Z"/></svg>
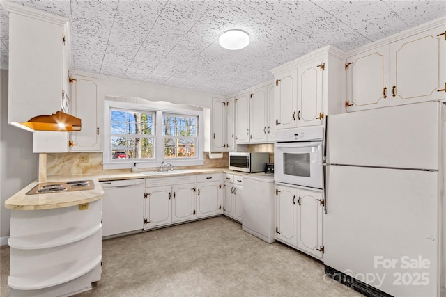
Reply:
<svg viewBox="0 0 446 297"><path fill-rule="evenodd" d="M249 134L251 143L266 142L268 89L258 88L249 93Z"/></svg>

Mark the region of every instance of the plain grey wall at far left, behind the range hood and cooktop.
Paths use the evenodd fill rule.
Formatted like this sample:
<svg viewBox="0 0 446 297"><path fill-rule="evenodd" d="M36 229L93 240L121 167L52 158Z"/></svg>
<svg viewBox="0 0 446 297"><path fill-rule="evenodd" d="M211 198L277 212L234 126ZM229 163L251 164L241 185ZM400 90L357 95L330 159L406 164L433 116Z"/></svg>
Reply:
<svg viewBox="0 0 446 297"><path fill-rule="evenodd" d="M0 70L0 244L7 244L10 210L5 201L38 177L38 154L33 154L29 131L8 125L8 71Z"/></svg>

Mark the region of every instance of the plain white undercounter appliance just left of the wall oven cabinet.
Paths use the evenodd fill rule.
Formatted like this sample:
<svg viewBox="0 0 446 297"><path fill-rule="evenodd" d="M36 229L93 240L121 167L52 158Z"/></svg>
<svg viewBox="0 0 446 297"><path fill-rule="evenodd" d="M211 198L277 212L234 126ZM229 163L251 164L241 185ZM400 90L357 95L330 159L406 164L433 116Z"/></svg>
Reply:
<svg viewBox="0 0 446 297"><path fill-rule="evenodd" d="M274 239L274 175L243 176L242 229L268 243Z"/></svg>

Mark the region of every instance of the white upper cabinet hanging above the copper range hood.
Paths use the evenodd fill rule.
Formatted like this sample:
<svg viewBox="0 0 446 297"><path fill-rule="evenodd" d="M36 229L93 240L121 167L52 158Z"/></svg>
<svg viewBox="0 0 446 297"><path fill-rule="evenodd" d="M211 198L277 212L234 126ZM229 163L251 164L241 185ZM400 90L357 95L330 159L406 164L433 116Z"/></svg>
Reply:
<svg viewBox="0 0 446 297"><path fill-rule="evenodd" d="M66 17L4 2L9 16L8 122L50 115L63 105L69 65ZM66 37L65 37L66 38ZM65 94L64 94L65 95Z"/></svg>

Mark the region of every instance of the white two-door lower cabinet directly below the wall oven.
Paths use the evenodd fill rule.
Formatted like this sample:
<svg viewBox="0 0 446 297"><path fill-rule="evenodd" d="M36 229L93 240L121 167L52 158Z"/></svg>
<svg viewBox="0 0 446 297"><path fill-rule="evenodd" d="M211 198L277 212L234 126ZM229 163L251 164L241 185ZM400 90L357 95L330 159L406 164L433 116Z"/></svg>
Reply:
<svg viewBox="0 0 446 297"><path fill-rule="evenodd" d="M275 194L275 239L322 259L322 191L276 184Z"/></svg>

